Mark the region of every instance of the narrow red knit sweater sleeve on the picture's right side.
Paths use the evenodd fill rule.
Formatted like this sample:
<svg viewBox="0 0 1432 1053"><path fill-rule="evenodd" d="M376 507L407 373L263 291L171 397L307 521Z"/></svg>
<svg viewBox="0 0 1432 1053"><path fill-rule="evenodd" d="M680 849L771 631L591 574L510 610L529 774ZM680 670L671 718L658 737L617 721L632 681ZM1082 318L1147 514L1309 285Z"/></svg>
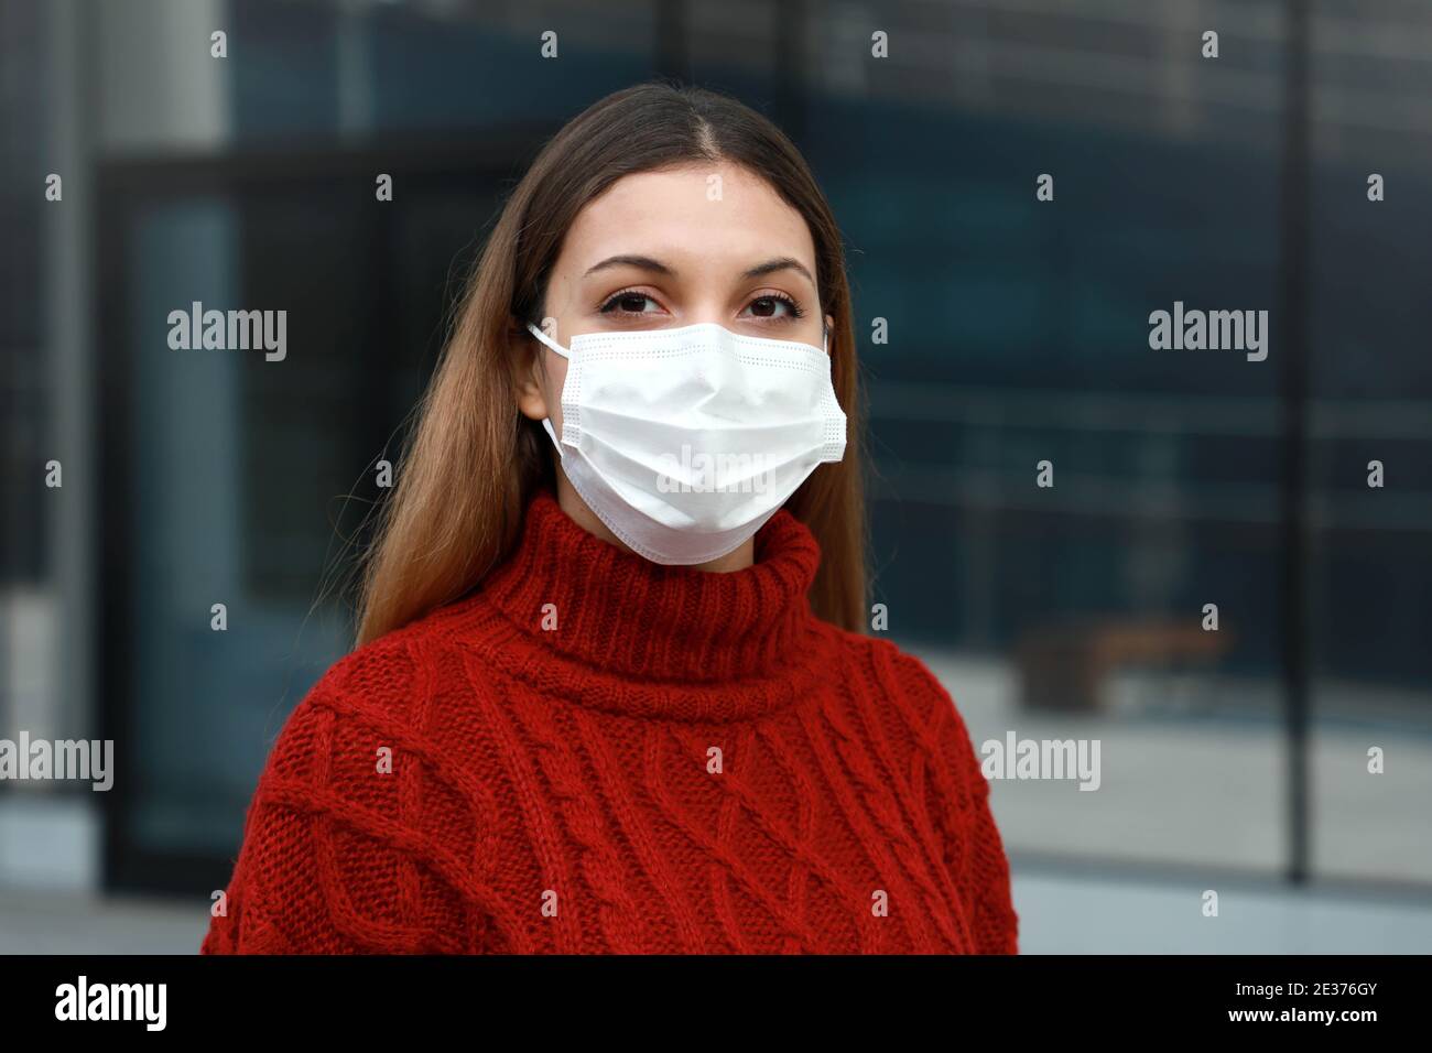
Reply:
<svg viewBox="0 0 1432 1053"><path fill-rule="evenodd" d="M896 665L909 696L931 702L931 811L945 841L945 862L965 898L975 951L1017 954L1020 917L1010 887L1010 860L990 808L990 781L979 755L954 699L925 663L901 652Z"/></svg>

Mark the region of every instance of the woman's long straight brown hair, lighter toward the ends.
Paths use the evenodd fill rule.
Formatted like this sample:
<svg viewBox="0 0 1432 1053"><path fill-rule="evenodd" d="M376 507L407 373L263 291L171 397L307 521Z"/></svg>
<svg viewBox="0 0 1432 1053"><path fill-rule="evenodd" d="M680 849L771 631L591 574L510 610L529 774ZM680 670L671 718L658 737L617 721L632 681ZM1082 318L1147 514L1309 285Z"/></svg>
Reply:
<svg viewBox="0 0 1432 1053"><path fill-rule="evenodd" d="M550 443L518 411L517 385L540 350L523 324L541 322L547 278L573 219L621 176L717 160L763 178L811 228L849 431L845 458L819 466L785 507L821 544L815 615L865 630L865 407L835 216L805 159L759 113L699 87L646 83L573 119L507 201L418 407L398 487L379 513L364 563L357 646L481 583L517 543L534 487L551 483Z"/></svg>

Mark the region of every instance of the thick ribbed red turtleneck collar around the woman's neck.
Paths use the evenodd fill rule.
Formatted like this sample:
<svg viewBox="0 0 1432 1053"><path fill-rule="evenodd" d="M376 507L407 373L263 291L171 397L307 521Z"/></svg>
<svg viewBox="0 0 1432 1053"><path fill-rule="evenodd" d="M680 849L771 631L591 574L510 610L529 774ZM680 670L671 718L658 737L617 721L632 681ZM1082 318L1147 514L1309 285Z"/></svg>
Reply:
<svg viewBox="0 0 1432 1053"><path fill-rule="evenodd" d="M450 625L491 642L477 607L497 612L513 632L500 633L494 656L527 673L547 666L543 679L557 693L563 678L551 662L570 660L581 666L573 675L607 682L607 691L583 692L599 708L710 719L759 713L803 691L819 650L808 645L823 623L808 599L821 562L811 530L779 509L755 542L755 563L740 570L663 566L589 533L538 489L517 547L460 602ZM544 612L556 629L544 629ZM739 699L729 688L739 688Z"/></svg>

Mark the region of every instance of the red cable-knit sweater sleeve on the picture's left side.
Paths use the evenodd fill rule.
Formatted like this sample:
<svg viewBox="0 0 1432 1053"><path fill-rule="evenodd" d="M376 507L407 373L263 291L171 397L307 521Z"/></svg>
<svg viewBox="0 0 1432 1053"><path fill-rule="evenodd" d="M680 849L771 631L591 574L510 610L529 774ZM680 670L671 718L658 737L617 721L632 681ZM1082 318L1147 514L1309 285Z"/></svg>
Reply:
<svg viewBox="0 0 1432 1053"><path fill-rule="evenodd" d="M435 865L420 817L405 815L415 784L374 761L392 735L355 712L321 681L288 718L200 954L483 950L478 913Z"/></svg>

